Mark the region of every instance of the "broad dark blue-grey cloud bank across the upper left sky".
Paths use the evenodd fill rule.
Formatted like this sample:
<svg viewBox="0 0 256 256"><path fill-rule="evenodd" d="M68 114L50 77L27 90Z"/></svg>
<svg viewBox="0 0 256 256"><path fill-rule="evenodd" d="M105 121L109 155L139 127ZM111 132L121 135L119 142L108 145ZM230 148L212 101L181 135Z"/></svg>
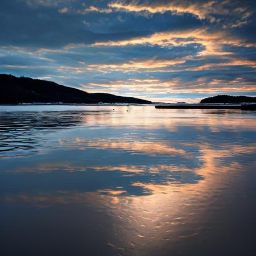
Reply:
<svg viewBox="0 0 256 256"><path fill-rule="evenodd" d="M170 28L176 30L200 26L198 20L188 16L156 14L148 19L128 13L120 15L89 12L80 15L76 13L77 10L85 6L75 6L75 9L66 7L70 11L59 12L61 7L70 6L71 3L78 5L75 1L58 1L58 5L53 4L55 1L27 2L29 4L19 0L1 3L1 45L54 48L69 43L91 44L96 41L122 40Z"/></svg>

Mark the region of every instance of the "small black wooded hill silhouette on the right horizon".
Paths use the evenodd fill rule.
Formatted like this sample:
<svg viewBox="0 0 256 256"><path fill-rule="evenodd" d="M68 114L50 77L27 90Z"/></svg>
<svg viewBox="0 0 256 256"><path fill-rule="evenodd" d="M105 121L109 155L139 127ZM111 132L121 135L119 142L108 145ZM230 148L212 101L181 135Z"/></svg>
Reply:
<svg viewBox="0 0 256 256"><path fill-rule="evenodd" d="M243 102L256 102L256 97L218 95L214 97L204 98L203 100L200 101L200 103L243 103Z"/></svg>

